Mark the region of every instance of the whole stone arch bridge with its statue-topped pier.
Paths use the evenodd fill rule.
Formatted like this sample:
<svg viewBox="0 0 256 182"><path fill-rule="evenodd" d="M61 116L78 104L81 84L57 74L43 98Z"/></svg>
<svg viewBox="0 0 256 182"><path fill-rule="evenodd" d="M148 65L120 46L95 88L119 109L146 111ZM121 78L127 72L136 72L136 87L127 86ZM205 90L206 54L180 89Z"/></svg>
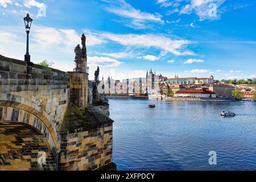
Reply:
<svg viewBox="0 0 256 182"><path fill-rule="evenodd" d="M101 112L108 104L88 102L86 56L75 61L63 72L0 55L0 170L112 166L113 121ZM38 164L40 151L46 164Z"/></svg>

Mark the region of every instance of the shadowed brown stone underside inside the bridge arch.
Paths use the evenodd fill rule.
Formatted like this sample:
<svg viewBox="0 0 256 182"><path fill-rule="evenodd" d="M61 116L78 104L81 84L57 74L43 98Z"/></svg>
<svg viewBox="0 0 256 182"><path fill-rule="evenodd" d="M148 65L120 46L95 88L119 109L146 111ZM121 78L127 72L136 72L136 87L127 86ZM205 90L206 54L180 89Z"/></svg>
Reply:
<svg viewBox="0 0 256 182"><path fill-rule="evenodd" d="M22 122L0 122L0 137L0 171L57 169L49 143L35 127Z"/></svg>

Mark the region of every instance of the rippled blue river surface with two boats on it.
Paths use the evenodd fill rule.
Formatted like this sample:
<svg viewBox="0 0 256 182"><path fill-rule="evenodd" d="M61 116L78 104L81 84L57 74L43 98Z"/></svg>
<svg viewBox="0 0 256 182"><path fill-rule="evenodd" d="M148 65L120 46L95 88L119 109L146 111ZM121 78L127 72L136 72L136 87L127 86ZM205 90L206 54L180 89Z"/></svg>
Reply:
<svg viewBox="0 0 256 182"><path fill-rule="evenodd" d="M109 104L118 170L256 170L256 102ZM223 110L237 115L221 117ZM217 165L209 164L210 151L217 153Z"/></svg>

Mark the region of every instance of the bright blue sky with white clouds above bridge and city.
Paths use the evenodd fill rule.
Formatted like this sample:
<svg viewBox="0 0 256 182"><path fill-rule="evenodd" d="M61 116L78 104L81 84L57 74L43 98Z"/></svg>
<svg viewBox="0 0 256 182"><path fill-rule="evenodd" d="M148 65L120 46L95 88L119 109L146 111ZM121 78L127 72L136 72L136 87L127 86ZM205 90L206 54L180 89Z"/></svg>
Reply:
<svg viewBox="0 0 256 182"><path fill-rule="evenodd" d="M0 0L0 54L23 59L29 12L34 63L72 71L85 33L91 79L97 65L115 79L150 68L167 77L252 78L255 9L253 0Z"/></svg>

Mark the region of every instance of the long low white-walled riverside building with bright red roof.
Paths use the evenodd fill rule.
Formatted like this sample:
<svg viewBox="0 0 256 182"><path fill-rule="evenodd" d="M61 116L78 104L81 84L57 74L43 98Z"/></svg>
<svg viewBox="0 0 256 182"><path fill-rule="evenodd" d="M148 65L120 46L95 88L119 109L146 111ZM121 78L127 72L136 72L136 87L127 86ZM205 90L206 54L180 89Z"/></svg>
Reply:
<svg viewBox="0 0 256 182"><path fill-rule="evenodd" d="M207 89L179 90L176 92L175 97L216 98L216 93Z"/></svg>

